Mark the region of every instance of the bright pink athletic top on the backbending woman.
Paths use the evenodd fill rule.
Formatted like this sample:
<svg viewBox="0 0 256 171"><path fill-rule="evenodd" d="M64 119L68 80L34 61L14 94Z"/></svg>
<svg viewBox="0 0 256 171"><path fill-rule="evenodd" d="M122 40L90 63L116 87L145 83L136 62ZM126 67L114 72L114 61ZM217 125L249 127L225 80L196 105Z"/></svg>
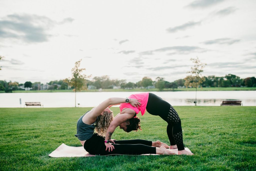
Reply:
<svg viewBox="0 0 256 171"><path fill-rule="evenodd" d="M141 111L141 116L143 116L146 112L146 107L147 107L147 101L148 101L148 92L145 93L138 93L138 94L132 94L128 98L133 98L137 100L141 100L141 106L139 108L133 107L130 103L121 103L120 104L120 112L124 108L130 108L136 112L136 115Z"/></svg>

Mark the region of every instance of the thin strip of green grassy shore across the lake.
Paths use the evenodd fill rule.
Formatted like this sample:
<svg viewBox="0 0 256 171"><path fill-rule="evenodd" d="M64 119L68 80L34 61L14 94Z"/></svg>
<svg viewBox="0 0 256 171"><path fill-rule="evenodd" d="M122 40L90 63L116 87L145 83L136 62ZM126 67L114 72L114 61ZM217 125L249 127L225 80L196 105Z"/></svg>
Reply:
<svg viewBox="0 0 256 171"><path fill-rule="evenodd" d="M256 87L205 87L205 88L197 88L197 91L255 91ZM159 91L159 89L91 89L91 90L82 90L80 92L145 92L145 91ZM162 91L196 91L196 88L177 88L177 89L164 89ZM16 90L13 93L45 93L45 92L74 92L73 90ZM5 93L4 91L0 91L0 93Z"/></svg>

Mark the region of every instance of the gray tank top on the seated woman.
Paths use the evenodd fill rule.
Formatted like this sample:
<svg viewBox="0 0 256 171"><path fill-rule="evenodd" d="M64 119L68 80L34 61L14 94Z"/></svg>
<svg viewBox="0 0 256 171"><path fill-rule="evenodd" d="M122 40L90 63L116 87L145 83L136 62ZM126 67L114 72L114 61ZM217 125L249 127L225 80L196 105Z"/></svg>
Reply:
<svg viewBox="0 0 256 171"><path fill-rule="evenodd" d="M88 113L88 112L89 111L87 111L86 113ZM94 128L96 127L95 122L98 119L98 117L97 117L94 124L87 125L87 124L83 123L83 121L82 121L83 116L81 116L77 121L77 134L75 135L80 141L88 140L89 138L92 137L92 135L94 133Z"/></svg>

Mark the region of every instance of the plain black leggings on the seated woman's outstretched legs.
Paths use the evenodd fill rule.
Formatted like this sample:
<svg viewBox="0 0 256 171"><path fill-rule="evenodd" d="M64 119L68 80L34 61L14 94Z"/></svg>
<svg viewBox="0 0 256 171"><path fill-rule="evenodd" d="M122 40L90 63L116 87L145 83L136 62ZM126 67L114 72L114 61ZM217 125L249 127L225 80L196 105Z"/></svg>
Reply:
<svg viewBox="0 0 256 171"><path fill-rule="evenodd" d="M106 151L104 144L105 137L93 134L91 138L85 141L84 149L90 154L94 155L110 155L110 154L127 154L127 155L141 155L141 154L156 154L156 147L152 147L152 141L135 139L135 140L116 140L112 144L115 149L113 151Z"/></svg>

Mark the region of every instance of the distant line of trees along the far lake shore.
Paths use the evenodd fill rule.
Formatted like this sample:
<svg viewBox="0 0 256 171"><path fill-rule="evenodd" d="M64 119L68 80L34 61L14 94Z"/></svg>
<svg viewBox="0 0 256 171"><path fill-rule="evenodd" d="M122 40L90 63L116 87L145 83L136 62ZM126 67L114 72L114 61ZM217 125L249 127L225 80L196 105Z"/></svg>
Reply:
<svg viewBox="0 0 256 171"><path fill-rule="evenodd" d="M189 76L187 76L189 77ZM186 78L187 78L186 77ZM190 88L192 87L189 83L186 83L186 78L178 79L174 82L168 82L164 78L157 77L155 81L153 81L149 77L144 77L141 81L136 83L126 82L126 80L111 80L108 75L104 75L101 77L94 77L92 81L84 79L85 86L90 87L92 89L113 89L113 88L121 88L121 89L134 89L134 88L157 88L160 91L164 89L177 89L182 87ZM200 83L199 87L256 87L256 78L248 77L245 79L241 79L240 77L227 74L225 77L215 77L214 75L203 77L204 81ZM18 82L5 81L0 80L0 91L12 91L12 90L24 90L24 88L30 88L32 90L41 90L40 82L30 82L26 81L24 84L20 84ZM67 79L64 80L54 80L47 83L48 90L67 90L74 89L74 86L69 86ZM21 88L22 87L22 88ZM24 87L24 88L23 88Z"/></svg>

